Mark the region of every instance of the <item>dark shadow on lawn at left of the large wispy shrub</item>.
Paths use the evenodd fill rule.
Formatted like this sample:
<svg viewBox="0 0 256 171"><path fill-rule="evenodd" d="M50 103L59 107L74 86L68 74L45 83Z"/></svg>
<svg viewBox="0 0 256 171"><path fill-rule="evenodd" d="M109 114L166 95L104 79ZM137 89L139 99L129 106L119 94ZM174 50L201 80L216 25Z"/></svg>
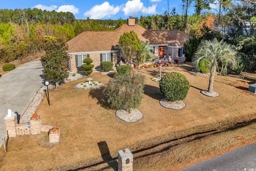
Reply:
<svg viewBox="0 0 256 171"><path fill-rule="evenodd" d="M89 96L91 96L92 98L96 98L98 100L97 104L99 104L101 107L110 109L107 98L103 96L103 90L103 86L98 89L91 89L89 92Z"/></svg>

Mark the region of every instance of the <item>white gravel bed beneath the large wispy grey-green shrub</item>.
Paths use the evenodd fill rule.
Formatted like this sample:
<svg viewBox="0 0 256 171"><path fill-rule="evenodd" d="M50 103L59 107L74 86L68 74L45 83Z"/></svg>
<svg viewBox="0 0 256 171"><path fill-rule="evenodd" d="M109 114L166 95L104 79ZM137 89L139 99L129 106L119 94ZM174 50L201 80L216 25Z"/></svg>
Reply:
<svg viewBox="0 0 256 171"><path fill-rule="evenodd" d="M133 109L130 113L126 110L116 110L116 116L125 122L136 122L143 117L138 109Z"/></svg>

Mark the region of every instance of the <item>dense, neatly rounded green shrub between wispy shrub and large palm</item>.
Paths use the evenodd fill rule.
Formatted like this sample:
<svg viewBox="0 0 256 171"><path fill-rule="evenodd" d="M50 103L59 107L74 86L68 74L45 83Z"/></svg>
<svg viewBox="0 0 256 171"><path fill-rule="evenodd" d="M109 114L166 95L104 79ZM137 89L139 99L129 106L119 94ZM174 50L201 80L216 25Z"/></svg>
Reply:
<svg viewBox="0 0 256 171"><path fill-rule="evenodd" d="M179 72L171 72L159 81L159 87L165 98L177 101L186 98L190 86L184 75Z"/></svg>

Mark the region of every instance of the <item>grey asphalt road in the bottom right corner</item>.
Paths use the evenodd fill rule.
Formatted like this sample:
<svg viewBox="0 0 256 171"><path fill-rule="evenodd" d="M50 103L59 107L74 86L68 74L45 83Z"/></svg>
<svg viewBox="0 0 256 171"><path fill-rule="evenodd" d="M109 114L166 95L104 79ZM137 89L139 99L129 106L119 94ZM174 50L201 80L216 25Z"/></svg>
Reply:
<svg viewBox="0 0 256 171"><path fill-rule="evenodd" d="M188 167L185 171L256 171L256 143L229 151L221 156Z"/></svg>

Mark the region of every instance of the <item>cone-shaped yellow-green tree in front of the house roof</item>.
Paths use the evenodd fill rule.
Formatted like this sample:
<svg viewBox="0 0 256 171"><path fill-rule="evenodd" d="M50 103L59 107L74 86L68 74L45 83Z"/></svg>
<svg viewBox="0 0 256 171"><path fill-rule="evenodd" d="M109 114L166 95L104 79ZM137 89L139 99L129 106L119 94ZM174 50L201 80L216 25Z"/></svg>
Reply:
<svg viewBox="0 0 256 171"><path fill-rule="evenodd" d="M134 56L142 50L141 41L134 31L125 32L119 38L118 45L123 56L130 63L132 63Z"/></svg>

